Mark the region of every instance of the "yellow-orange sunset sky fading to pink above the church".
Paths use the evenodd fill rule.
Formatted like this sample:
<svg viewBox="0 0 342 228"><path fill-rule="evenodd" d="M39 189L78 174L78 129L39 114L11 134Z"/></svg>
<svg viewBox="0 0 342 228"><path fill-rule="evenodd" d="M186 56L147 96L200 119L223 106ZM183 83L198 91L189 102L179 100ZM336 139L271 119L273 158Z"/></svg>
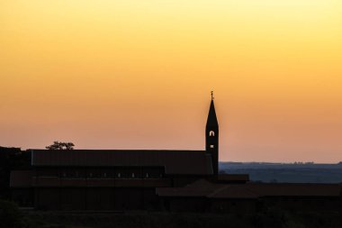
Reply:
<svg viewBox="0 0 342 228"><path fill-rule="evenodd" d="M1 0L0 145L342 160L340 0Z"/></svg>

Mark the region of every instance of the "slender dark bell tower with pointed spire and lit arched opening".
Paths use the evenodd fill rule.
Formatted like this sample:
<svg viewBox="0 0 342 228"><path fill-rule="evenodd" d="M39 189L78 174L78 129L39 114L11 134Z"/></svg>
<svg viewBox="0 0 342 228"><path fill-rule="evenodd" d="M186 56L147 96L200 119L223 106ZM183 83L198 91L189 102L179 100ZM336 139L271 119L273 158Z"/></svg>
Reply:
<svg viewBox="0 0 342 228"><path fill-rule="evenodd" d="M215 106L211 91L211 106L205 127L205 150L211 154L212 171L214 175L219 173L219 123L217 121Z"/></svg>

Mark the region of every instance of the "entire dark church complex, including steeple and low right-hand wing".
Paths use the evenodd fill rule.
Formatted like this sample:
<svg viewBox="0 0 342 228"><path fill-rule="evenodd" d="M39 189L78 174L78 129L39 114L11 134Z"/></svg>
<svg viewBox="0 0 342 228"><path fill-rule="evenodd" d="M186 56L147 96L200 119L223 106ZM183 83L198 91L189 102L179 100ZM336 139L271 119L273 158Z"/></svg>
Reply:
<svg viewBox="0 0 342 228"><path fill-rule="evenodd" d="M220 174L219 123L211 92L205 150L29 150L13 170L12 199L44 210L231 212L262 204L341 206L340 185L252 183Z"/></svg>

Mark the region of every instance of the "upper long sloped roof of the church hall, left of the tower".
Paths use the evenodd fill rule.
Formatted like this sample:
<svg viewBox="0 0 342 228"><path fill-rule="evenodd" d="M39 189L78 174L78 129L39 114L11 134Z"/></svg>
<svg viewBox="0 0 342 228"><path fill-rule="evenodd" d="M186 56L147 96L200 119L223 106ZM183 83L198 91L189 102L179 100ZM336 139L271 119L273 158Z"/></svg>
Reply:
<svg viewBox="0 0 342 228"><path fill-rule="evenodd" d="M158 166L166 174L211 175L204 150L31 150L32 166Z"/></svg>

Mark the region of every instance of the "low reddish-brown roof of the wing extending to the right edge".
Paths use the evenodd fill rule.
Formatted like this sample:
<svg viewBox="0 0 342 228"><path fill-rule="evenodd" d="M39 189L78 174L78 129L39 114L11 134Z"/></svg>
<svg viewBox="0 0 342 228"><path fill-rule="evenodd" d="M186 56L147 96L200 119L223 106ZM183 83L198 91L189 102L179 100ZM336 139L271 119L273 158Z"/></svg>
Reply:
<svg viewBox="0 0 342 228"><path fill-rule="evenodd" d="M257 198L272 196L340 196L339 184L215 184L198 180L185 187L158 187L157 195L166 197Z"/></svg>

